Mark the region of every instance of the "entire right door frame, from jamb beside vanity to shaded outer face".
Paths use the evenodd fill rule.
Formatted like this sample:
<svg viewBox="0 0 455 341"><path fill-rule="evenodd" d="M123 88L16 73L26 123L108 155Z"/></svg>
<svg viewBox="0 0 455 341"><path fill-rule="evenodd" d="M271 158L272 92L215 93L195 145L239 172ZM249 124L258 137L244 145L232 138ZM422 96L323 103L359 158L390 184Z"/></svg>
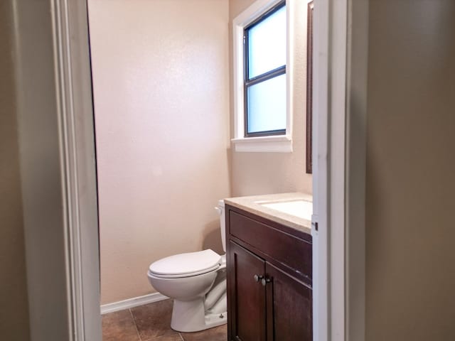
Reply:
<svg viewBox="0 0 455 341"><path fill-rule="evenodd" d="M314 340L361 341L368 1L314 4Z"/></svg>

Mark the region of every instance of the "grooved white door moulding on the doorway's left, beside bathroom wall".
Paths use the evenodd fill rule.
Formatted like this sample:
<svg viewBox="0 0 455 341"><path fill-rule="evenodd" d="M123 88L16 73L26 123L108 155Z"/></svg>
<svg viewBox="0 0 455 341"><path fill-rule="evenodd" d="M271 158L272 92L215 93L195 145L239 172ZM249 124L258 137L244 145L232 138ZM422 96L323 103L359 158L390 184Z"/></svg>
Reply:
<svg viewBox="0 0 455 341"><path fill-rule="evenodd" d="M72 334L75 341L101 340L95 127L87 3L53 0L52 5Z"/></svg>

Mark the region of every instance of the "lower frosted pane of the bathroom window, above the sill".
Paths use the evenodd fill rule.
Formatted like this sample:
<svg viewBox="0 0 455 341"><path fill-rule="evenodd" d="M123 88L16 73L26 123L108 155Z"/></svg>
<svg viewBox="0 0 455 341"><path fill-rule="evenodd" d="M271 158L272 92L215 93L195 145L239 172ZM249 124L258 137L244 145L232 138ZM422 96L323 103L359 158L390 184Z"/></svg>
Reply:
<svg viewBox="0 0 455 341"><path fill-rule="evenodd" d="M248 134L286 129L286 74L247 89Z"/></svg>

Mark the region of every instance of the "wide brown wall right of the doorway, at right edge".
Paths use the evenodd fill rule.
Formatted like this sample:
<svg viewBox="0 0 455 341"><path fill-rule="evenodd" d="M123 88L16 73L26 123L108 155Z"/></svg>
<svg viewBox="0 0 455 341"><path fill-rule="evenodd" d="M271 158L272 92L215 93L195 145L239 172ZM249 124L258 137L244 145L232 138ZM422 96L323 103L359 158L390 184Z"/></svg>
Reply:
<svg viewBox="0 0 455 341"><path fill-rule="evenodd" d="M455 340L455 2L370 1L366 340Z"/></svg>

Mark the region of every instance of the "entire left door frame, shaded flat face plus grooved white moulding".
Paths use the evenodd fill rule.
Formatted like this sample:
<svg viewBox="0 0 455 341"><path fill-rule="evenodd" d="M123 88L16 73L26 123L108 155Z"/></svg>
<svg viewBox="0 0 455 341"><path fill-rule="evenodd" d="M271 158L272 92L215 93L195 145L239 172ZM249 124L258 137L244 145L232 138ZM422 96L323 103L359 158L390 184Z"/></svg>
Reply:
<svg viewBox="0 0 455 341"><path fill-rule="evenodd" d="M10 15L30 339L101 340L87 3L11 0Z"/></svg>

